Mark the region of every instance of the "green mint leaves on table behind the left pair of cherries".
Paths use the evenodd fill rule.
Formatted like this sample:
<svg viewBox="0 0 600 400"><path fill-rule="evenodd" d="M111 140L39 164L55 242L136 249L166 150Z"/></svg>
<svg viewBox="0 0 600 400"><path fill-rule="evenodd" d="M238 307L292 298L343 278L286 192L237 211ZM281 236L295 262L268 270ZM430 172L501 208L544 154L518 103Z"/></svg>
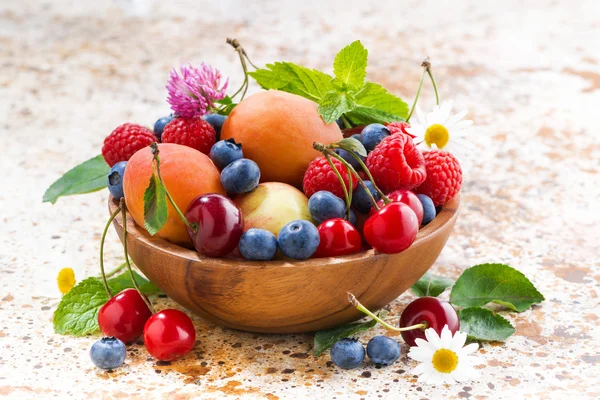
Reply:
<svg viewBox="0 0 600 400"><path fill-rule="evenodd" d="M149 280L134 271L135 281L145 294L159 294L160 290ZM113 293L133 288L129 272L108 280ZM100 330L98 311L108 301L102 280L90 277L82 280L65 294L54 311L54 331L61 335L85 336Z"/></svg>

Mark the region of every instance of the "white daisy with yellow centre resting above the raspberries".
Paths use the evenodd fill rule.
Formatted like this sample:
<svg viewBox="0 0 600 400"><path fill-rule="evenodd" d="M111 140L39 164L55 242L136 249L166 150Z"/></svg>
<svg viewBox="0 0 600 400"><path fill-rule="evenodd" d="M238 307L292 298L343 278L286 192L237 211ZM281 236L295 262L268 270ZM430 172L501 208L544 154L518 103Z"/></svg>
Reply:
<svg viewBox="0 0 600 400"><path fill-rule="evenodd" d="M433 111L425 115L417 105L417 122L411 122L406 131L415 136L414 141L421 148L440 149L458 156L463 150L472 149L465 138L467 128L473 124L471 120L463 120L467 111L450 116L452 102L435 106ZM458 153L458 154L457 154Z"/></svg>

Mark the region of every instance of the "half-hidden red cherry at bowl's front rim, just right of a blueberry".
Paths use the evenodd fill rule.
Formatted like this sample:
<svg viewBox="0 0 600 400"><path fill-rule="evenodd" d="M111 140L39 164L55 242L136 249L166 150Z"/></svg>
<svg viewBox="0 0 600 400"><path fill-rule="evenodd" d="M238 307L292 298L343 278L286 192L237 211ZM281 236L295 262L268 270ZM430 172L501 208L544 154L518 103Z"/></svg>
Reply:
<svg viewBox="0 0 600 400"><path fill-rule="evenodd" d="M342 218L332 218L319 225L319 247L314 257L335 257L360 251L362 238L356 228Z"/></svg>

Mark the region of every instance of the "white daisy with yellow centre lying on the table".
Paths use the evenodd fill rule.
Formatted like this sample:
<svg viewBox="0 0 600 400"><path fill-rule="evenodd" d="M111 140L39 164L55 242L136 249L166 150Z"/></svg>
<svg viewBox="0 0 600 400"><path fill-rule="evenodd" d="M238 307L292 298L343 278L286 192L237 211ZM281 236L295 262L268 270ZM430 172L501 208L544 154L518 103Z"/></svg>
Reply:
<svg viewBox="0 0 600 400"><path fill-rule="evenodd" d="M459 331L453 337L446 325L440 336L433 328L429 328L425 330L425 337L427 340L416 339L417 346L411 347L408 352L410 358L421 363L412 370L412 373L419 375L419 382L440 385L479 376L479 371L473 368L479 359L469 355L476 351L479 345L471 343L464 346L467 340L466 333Z"/></svg>

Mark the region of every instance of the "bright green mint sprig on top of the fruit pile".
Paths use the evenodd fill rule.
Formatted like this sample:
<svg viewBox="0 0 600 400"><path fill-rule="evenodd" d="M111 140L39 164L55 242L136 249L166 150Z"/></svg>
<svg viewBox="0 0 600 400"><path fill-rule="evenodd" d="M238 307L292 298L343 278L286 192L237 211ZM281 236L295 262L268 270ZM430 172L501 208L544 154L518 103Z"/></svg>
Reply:
<svg viewBox="0 0 600 400"><path fill-rule="evenodd" d="M275 62L248 74L264 89L297 94L319 104L327 123L342 118L354 125L404 121L408 105L383 86L367 82L368 52L360 41L344 47L331 76L291 62Z"/></svg>

